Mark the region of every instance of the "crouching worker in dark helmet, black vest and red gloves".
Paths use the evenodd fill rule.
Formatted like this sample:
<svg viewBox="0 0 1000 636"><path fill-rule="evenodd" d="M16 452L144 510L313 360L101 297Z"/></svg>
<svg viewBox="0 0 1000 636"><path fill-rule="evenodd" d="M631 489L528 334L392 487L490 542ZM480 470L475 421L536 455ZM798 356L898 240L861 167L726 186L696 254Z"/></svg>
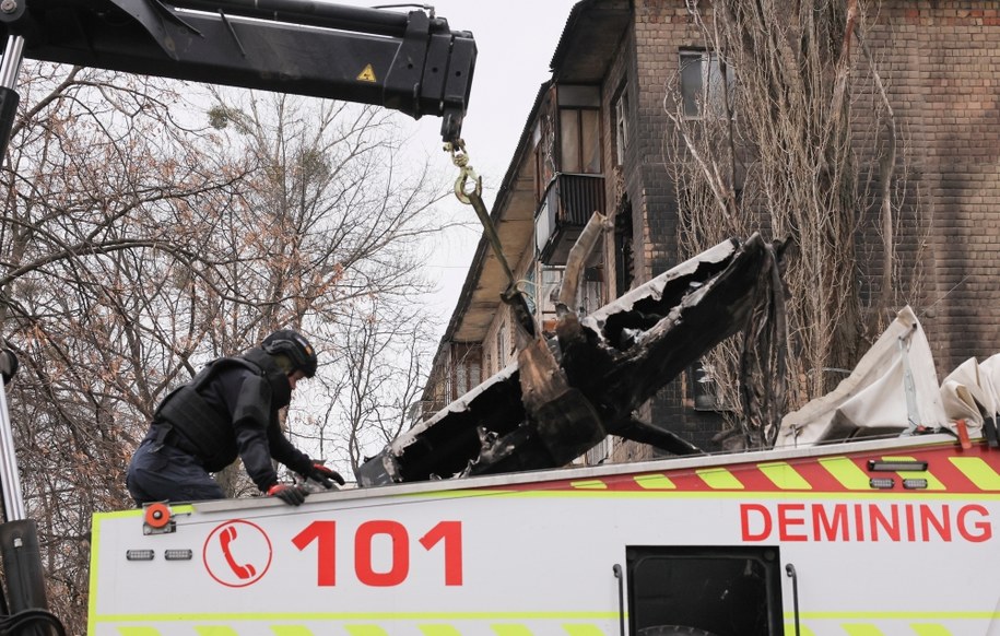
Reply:
<svg viewBox="0 0 1000 636"><path fill-rule="evenodd" d="M225 497L209 473L238 456L262 493L293 506L306 491L281 483L275 459L304 478L332 488L337 471L313 461L281 432L278 412L287 407L303 378L316 374L316 352L299 333L281 329L239 356L220 357L172 391L153 414L126 475L139 506Z"/></svg>

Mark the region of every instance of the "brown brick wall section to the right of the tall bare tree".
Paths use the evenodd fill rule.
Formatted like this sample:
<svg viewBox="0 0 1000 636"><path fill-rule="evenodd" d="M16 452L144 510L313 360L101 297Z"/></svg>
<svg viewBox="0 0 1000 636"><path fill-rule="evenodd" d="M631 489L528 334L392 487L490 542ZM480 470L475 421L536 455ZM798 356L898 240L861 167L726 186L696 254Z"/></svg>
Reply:
<svg viewBox="0 0 1000 636"><path fill-rule="evenodd" d="M897 0L878 17L867 38L915 189L901 213L928 228L908 302L943 376L1000 352L1000 2Z"/></svg>

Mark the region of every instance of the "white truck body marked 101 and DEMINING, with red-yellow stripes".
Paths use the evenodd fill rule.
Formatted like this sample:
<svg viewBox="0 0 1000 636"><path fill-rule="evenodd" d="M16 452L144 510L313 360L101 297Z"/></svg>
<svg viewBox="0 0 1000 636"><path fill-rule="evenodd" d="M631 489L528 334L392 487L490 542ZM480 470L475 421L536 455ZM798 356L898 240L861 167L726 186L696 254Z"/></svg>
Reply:
<svg viewBox="0 0 1000 636"><path fill-rule="evenodd" d="M179 505L162 530L148 511L102 514L89 633L1000 634L1000 450L965 446L933 434L321 493L298 508ZM903 463L870 466L883 461Z"/></svg>

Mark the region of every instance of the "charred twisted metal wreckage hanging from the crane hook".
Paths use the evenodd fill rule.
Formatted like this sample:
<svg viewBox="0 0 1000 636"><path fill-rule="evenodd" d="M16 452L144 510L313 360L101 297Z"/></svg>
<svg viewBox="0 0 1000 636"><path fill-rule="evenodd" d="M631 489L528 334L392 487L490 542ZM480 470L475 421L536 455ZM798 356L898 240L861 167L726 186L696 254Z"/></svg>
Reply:
<svg viewBox="0 0 1000 636"><path fill-rule="evenodd" d="M555 468L607 435L701 452L634 412L726 338L779 328L786 246L726 240L583 319L560 303L550 339L515 304L517 361L390 441L360 467L358 484Z"/></svg>

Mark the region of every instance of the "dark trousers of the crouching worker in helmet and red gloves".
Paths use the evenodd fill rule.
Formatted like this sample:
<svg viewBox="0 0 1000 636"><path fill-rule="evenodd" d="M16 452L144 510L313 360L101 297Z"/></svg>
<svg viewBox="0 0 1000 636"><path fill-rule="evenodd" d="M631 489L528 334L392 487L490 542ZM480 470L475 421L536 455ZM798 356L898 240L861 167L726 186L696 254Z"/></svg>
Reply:
<svg viewBox="0 0 1000 636"><path fill-rule="evenodd" d="M129 462L126 485L136 504L224 499L225 493L190 455L146 435Z"/></svg>

